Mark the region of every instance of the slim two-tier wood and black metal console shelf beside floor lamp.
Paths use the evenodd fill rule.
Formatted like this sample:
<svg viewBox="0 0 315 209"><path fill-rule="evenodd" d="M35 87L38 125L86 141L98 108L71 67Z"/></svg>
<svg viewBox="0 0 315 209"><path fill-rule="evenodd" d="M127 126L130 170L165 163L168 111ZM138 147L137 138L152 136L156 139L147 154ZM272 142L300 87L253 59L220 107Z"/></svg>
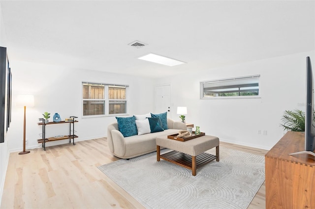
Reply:
<svg viewBox="0 0 315 209"><path fill-rule="evenodd" d="M38 143L42 143L42 147L44 150L46 150L46 143L51 142L51 141L59 141L59 140L64 140L64 139L69 139L69 143L71 143L71 139L73 140L73 145L74 143L74 138L77 138L78 136L74 134L74 123L77 123L78 121L75 120L77 118L76 116L71 116L70 118L73 118L73 121L60 121L60 122L49 122L49 123L37 123L38 126L42 126L42 138L37 139ZM39 120L44 121L42 118ZM56 124L69 124L69 135L65 135L64 137L60 138L54 138L53 140L50 138L46 138L46 126L47 125L56 125ZM72 124L72 129L71 129L71 124ZM71 134L73 132L73 134Z"/></svg>

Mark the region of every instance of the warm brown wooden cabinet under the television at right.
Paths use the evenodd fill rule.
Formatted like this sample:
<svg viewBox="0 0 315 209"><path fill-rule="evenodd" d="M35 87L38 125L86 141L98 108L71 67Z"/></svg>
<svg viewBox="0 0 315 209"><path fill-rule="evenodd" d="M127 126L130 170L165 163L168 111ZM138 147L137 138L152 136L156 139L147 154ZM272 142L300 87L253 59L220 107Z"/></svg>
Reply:
<svg viewBox="0 0 315 209"><path fill-rule="evenodd" d="M315 208L315 157L304 150L304 133L288 131L265 155L266 209Z"/></svg>

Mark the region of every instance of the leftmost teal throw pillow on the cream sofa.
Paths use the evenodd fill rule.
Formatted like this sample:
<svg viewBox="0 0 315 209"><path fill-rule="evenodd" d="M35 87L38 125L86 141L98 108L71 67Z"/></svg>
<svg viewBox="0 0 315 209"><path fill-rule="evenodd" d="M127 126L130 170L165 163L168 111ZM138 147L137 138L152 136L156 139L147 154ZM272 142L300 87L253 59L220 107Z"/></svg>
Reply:
<svg viewBox="0 0 315 209"><path fill-rule="evenodd" d="M138 134L136 118L134 116L126 118L116 117L116 119L118 123L118 129L123 134L124 137Z"/></svg>

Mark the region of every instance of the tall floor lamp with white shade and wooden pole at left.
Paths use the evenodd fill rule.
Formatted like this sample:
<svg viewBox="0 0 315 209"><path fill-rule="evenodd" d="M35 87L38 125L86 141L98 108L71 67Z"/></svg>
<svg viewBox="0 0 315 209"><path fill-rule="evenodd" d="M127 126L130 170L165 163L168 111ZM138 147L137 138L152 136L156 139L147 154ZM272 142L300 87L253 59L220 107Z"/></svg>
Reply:
<svg viewBox="0 0 315 209"><path fill-rule="evenodd" d="M34 106L34 96L29 94L19 94L16 98L16 106L24 106L24 129L23 129L23 151L19 155L24 155L30 153L30 151L25 150L26 138L26 106Z"/></svg>

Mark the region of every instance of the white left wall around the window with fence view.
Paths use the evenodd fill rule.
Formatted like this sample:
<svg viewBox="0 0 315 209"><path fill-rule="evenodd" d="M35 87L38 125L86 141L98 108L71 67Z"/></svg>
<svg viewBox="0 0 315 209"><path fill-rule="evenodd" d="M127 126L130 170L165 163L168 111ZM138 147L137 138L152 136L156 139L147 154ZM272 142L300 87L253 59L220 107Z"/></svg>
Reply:
<svg viewBox="0 0 315 209"><path fill-rule="evenodd" d="M7 133L10 152L23 147L23 107L15 107L17 94L33 94L35 105L27 107L26 138L28 148L39 146L41 126L37 125L42 113L58 112L62 119L78 116L75 124L75 141L107 136L107 125L116 118L82 118L82 81L129 84L129 113L142 114L153 110L153 80L98 71L69 69L54 65L42 65L11 60L12 70L12 122ZM106 68L106 66L104 66ZM53 121L53 117L50 118ZM46 126L46 137L68 134L68 126ZM46 146L68 143L68 140L47 143Z"/></svg>

